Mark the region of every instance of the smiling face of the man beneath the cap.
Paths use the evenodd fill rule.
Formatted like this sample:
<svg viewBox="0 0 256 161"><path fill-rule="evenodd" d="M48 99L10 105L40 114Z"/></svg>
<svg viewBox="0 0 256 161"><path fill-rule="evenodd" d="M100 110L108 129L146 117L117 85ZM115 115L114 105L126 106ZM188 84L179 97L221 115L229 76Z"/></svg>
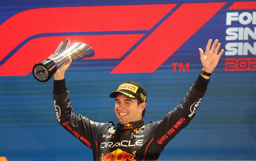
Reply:
<svg viewBox="0 0 256 161"><path fill-rule="evenodd" d="M141 111L137 101L138 100L131 99L123 94L118 94L116 96L115 112L120 124L141 120L143 109Z"/></svg>

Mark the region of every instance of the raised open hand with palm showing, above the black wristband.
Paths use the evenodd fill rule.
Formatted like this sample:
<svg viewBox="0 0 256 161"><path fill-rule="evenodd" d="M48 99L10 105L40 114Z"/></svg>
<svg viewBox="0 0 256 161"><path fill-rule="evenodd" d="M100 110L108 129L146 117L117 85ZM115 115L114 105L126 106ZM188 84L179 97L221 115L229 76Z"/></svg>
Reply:
<svg viewBox="0 0 256 161"><path fill-rule="evenodd" d="M211 43L212 43L212 39L208 41L206 45L205 53L201 48L199 48L200 60L203 65L203 70L207 73L212 73L212 71L218 64L221 55L224 52L224 50L222 49L218 54L218 51L220 49L220 43L218 43L217 39L213 42L212 48L210 50Z"/></svg>

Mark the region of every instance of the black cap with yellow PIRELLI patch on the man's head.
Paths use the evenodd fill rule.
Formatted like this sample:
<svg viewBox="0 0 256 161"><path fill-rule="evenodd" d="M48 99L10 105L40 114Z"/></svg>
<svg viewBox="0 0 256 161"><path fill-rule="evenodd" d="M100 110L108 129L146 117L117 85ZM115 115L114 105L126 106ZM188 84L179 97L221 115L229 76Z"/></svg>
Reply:
<svg viewBox="0 0 256 161"><path fill-rule="evenodd" d="M140 83L136 81L126 81L121 84L116 91L112 92L109 97L116 98L118 94L124 94L131 99L137 99L142 102L147 101L147 92Z"/></svg>

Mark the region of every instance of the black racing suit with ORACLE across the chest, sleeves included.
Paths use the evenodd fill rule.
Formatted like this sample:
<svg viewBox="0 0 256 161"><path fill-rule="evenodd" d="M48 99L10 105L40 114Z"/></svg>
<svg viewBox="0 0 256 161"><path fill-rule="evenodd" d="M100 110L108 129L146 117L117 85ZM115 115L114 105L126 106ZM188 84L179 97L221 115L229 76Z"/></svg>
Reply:
<svg viewBox="0 0 256 161"><path fill-rule="evenodd" d="M93 160L156 160L167 143L193 119L209 80L199 75L185 98L163 120L144 125L97 123L75 114L65 80L54 81L53 100L61 126L93 151Z"/></svg>

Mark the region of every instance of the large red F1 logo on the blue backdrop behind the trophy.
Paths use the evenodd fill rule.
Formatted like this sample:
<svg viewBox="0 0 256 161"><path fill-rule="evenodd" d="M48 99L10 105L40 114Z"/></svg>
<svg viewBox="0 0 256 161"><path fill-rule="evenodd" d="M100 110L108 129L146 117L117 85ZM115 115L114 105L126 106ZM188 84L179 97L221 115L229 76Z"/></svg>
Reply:
<svg viewBox="0 0 256 161"><path fill-rule="evenodd" d="M56 7L22 11L0 26L0 76L28 75L33 65L54 53L66 37L71 39L70 45L72 42L90 45L95 50L95 56L90 59L122 59L110 73L154 72L225 4ZM16 64L19 68L14 68Z"/></svg>

